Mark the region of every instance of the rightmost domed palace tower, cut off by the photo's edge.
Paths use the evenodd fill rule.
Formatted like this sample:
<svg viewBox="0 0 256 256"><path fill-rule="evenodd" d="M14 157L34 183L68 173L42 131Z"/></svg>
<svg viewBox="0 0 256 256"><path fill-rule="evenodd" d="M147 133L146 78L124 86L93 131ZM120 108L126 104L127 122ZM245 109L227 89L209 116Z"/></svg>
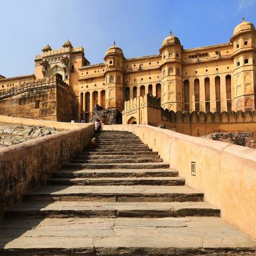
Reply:
<svg viewBox="0 0 256 256"><path fill-rule="evenodd" d="M256 31L253 23L242 22L236 26L230 43L234 53L234 110L256 108Z"/></svg>

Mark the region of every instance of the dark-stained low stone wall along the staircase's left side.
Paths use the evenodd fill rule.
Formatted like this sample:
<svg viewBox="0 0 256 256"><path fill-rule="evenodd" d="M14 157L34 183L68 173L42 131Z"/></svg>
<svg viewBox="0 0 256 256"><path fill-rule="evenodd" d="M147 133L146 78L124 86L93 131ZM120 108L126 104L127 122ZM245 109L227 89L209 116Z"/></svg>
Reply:
<svg viewBox="0 0 256 256"><path fill-rule="evenodd" d="M14 119L14 118L13 118ZM23 118L18 118L23 119ZM25 119L31 122L40 120ZM16 120L17 121L17 120ZM44 121L45 124L47 121ZM61 123L48 122L60 127ZM67 128L66 123L61 127ZM72 129L72 125L74 126ZM82 150L94 134L93 124L69 123L68 131L32 139L0 150L0 218L3 209L17 203L23 193L46 183L47 177Z"/></svg>

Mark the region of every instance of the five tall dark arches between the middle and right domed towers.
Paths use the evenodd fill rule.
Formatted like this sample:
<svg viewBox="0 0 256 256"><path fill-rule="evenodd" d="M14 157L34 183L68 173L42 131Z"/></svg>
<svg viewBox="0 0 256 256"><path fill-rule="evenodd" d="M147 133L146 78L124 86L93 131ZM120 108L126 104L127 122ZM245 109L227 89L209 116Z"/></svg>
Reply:
<svg viewBox="0 0 256 256"><path fill-rule="evenodd" d="M231 97L231 76L226 75L225 77L226 84L226 102L227 110L230 112L232 110L232 97ZM189 111L190 108L190 93L189 93L189 80L184 81L184 110ZM200 81L195 79L193 81L193 88L195 92L195 110L196 112L200 111ZM215 100L216 100L216 111L221 112L221 85L220 85L220 76L214 78L215 86ZM205 77L204 79L204 92L205 92L205 112L210 111L210 101L212 101L210 96L210 79Z"/></svg>

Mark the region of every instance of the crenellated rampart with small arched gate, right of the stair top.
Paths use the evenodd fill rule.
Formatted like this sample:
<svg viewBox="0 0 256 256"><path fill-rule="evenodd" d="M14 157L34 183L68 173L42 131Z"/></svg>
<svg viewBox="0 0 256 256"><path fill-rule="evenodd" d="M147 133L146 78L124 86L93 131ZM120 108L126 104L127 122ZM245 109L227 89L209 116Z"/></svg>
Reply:
<svg viewBox="0 0 256 256"><path fill-rule="evenodd" d="M209 133L244 132L256 130L256 110L251 112L174 112L160 107L160 98L137 97L125 102L122 112L123 124L145 124L158 126L160 123L179 133L200 137Z"/></svg>

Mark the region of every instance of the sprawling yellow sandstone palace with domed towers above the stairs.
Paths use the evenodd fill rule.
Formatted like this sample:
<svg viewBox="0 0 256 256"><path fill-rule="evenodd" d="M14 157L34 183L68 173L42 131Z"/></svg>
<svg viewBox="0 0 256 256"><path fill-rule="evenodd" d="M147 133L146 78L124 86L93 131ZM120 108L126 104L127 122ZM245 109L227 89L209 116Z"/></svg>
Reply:
<svg viewBox="0 0 256 256"><path fill-rule="evenodd" d="M96 104L102 109L122 112L125 101L145 94L160 98L160 106L174 112L255 110L255 36L253 23L245 19L234 28L228 43L211 46L184 49L179 38L170 32L158 54L129 59L114 42L106 51L104 62L94 65L85 58L84 48L73 47L69 40L60 49L51 49L47 45L42 54L35 56L35 74L0 76L0 114L7 115L12 111L11 115L23 117L23 110L10 109L25 102L23 105L28 109L37 107L34 118L57 121L85 118L88 121ZM65 93L69 94L61 98L61 104L57 97L47 101L50 91L44 96L40 93L31 96L30 93L30 100L26 100L28 92L25 93L24 88L32 90L27 84L42 84L39 86L42 92L42 88L47 90L44 86L47 81L56 75L58 81L61 77ZM56 95L59 95L57 91ZM49 110L51 104L55 109L53 112ZM68 105L68 110L64 110L63 105ZM56 117L57 113L64 112L69 113L65 118L49 118L49 115ZM48 113L46 118L44 113Z"/></svg>

